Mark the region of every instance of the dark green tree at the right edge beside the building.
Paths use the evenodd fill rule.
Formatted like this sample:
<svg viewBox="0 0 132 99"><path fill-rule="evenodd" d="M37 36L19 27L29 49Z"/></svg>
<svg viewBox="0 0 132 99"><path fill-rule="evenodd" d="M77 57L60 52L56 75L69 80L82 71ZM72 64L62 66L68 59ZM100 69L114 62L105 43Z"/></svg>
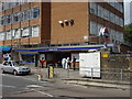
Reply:
<svg viewBox="0 0 132 99"><path fill-rule="evenodd" d="M132 43L132 24L124 26L124 41Z"/></svg>

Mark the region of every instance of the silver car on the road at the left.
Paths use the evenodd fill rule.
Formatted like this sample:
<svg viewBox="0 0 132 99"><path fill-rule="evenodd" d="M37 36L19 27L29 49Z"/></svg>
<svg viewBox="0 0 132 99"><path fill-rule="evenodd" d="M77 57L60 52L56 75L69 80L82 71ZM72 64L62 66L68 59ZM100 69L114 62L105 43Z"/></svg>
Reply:
<svg viewBox="0 0 132 99"><path fill-rule="evenodd" d="M31 68L25 67L18 62L14 61L6 61L1 64L1 70L2 73L13 73L13 75L19 74L30 74Z"/></svg>

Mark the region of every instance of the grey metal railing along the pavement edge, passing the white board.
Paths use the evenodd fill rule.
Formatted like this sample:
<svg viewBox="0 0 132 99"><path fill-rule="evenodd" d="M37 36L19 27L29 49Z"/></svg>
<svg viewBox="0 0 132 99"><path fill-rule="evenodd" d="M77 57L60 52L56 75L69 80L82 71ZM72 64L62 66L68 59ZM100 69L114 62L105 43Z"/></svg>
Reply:
<svg viewBox="0 0 132 99"><path fill-rule="evenodd" d="M43 68L40 70L43 75L43 79L48 78L48 68ZM89 79L102 79L102 80L120 80L130 81L132 77L132 69L124 68L79 68L76 70L63 69L54 67L53 79L78 79L78 78L89 78Z"/></svg>

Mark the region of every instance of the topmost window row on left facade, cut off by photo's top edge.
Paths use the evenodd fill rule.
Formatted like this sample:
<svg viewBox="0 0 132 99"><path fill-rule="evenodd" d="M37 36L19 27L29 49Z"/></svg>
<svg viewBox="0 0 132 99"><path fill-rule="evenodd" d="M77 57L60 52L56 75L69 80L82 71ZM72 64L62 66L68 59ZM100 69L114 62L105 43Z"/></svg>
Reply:
<svg viewBox="0 0 132 99"><path fill-rule="evenodd" d="M0 2L0 11L12 9L24 3L28 3L28 0L10 0L10 2L9 0L4 0L3 2Z"/></svg>

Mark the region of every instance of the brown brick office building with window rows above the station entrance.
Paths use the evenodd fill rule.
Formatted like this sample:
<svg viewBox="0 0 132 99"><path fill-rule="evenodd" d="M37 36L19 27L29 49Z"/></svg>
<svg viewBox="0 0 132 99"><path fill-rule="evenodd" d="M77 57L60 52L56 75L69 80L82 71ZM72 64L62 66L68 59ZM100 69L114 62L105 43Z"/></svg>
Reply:
<svg viewBox="0 0 132 99"><path fill-rule="evenodd" d="M0 2L0 45L13 46L22 59L31 55L33 61L40 54L57 62L72 53L99 48L101 28L108 28L109 43L123 42L123 2Z"/></svg>

